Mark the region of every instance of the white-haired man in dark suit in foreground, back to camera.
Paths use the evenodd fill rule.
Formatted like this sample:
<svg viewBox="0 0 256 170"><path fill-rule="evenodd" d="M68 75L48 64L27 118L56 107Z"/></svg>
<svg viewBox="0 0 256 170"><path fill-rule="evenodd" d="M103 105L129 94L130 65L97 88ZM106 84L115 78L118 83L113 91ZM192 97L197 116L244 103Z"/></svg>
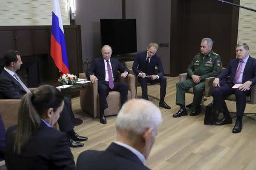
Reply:
<svg viewBox="0 0 256 170"><path fill-rule="evenodd" d="M117 141L105 151L82 152L77 159L77 169L148 169L144 163L161 122L161 112L151 101L127 101L117 115Z"/></svg>

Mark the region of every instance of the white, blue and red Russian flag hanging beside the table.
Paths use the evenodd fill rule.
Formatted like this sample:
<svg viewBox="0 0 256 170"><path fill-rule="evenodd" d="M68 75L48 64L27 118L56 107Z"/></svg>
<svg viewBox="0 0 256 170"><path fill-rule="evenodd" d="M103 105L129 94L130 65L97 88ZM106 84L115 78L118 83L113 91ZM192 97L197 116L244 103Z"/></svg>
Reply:
<svg viewBox="0 0 256 170"><path fill-rule="evenodd" d="M59 0L53 0L51 56L57 68L63 73L69 73L68 56L65 45L64 29L60 13Z"/></svg>

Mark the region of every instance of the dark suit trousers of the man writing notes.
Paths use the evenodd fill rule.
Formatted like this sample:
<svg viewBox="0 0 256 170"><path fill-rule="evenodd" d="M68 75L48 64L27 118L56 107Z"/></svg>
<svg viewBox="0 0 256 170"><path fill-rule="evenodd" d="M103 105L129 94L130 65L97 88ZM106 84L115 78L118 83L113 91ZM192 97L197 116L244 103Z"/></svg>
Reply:
<svg viewBox="0 0 256 170"><path fill-rule="evenodd" d="M152 80L150 78L141 78L138 77L139 82L141 83L142 98L148 100L147 96L147 83L160 83L160 100L164 101L166 97L166 77L162 76L159 79Z"/></svg>

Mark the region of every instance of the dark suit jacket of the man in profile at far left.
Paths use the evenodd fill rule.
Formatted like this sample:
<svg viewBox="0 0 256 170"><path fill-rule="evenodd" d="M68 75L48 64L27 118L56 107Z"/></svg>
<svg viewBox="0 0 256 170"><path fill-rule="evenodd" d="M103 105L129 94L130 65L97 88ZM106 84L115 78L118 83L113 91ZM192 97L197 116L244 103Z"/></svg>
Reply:
<svg viewBox="0 0 256 170"><path fill-rule="evenodd" d="M3 70L0 74L0 94L4 99L21 99L27 92L13 76Z"/></svg>

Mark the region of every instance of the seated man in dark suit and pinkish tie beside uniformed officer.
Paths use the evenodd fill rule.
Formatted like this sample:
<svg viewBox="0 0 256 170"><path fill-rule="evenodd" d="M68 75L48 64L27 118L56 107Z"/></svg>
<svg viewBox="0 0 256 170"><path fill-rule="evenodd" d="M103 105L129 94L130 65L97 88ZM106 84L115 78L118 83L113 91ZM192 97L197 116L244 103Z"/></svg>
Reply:
<svg viewBox="0 0 256 170"><path fill-rule="evenodd" d="M245 43L236 45L237 57L232 59L226 69L213 81L216 87L212 91L214 105L218 113L224 117L215 125L232 124L229 110L226 107L225 96L235 94L237 100L237 119L233 133L242 130L242 117L246 106L246 96L250 95L250 87L256 83L256 59L249 56L249 46ZM234 84L241 84L238 88L232 88Z"/></svg>

